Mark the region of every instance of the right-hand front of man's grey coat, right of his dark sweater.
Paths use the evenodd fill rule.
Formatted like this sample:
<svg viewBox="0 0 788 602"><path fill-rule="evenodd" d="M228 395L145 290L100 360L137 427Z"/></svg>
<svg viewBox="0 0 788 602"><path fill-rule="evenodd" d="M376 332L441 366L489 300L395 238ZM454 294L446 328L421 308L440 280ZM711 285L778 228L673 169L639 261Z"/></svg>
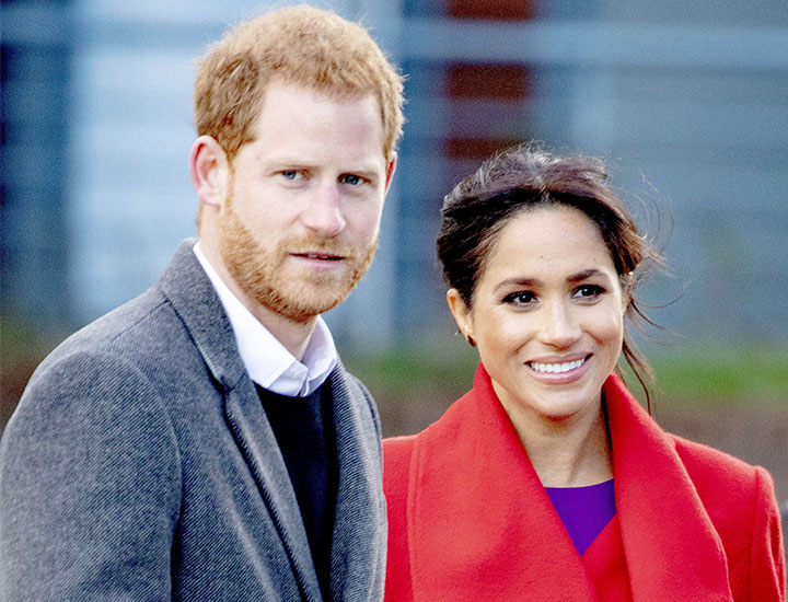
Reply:
<svg viewBox="0 0 788 602"><path fill-rule="evenodd" d="M369 405L345 368L328 377L339 467L334 539L331 552L332 600L382 598L385 555L380 441ZM380 586L378 598L370 595Z"/></svg>

